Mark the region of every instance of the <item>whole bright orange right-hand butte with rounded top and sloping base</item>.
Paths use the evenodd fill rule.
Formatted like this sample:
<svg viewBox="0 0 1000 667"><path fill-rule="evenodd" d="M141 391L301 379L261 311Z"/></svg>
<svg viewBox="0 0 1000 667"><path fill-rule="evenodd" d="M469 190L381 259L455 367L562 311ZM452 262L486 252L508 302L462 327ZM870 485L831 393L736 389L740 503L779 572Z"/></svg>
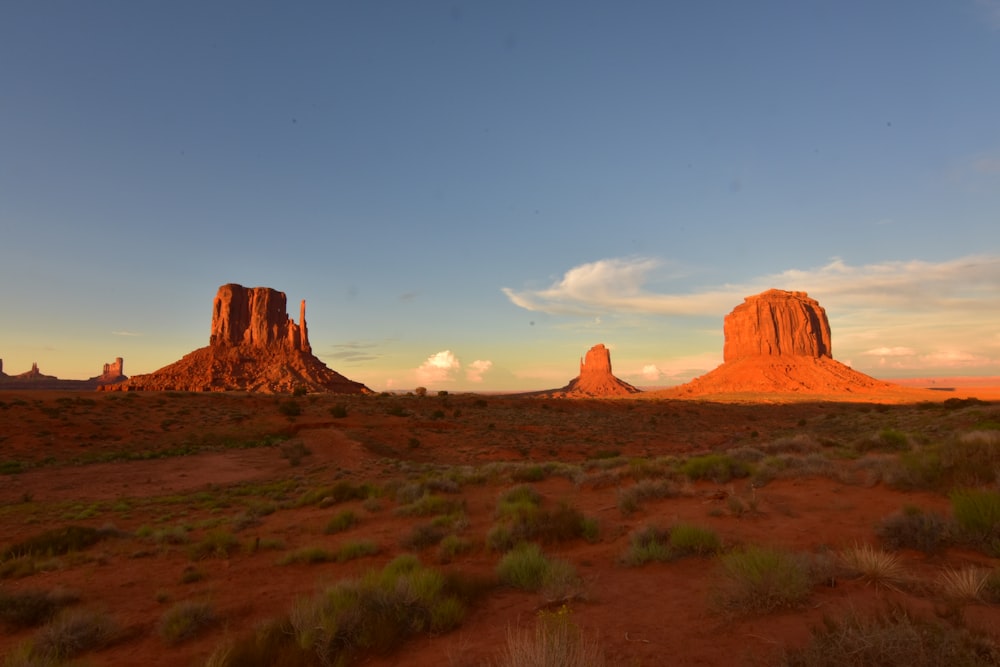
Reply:
<svg viewBox="0 0 1000 667"><path fill-rule="evenodd" d="M664 393L864 394L894 387L833 359L826 311L805 292L748 296L726 316L723 333L722 365Z"/></svg>

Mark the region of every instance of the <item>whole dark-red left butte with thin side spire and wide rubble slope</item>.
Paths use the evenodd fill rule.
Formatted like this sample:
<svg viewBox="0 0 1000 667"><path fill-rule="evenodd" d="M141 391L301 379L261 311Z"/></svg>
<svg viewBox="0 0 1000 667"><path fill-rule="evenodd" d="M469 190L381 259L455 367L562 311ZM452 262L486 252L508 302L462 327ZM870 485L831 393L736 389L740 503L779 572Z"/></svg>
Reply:
<svg viewBox="0 0 1000 667"><path fill-rule="evenodd" d="M147 375L104 387L122 391L307 391L371 393L312 354L306 302L296 323L286 311L284 292L270 287L223 285L212 304L207 347Z"/></svg>

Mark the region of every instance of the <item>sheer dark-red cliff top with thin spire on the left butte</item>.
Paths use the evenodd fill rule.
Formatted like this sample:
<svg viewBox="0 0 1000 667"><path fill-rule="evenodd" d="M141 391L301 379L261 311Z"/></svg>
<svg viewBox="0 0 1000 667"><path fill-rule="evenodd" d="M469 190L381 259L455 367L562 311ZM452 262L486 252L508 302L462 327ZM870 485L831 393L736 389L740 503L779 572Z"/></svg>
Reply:
<svg viewBox="0 0 1000 667"><path fill-rule="evenodd" d="M311 352L306 330L306 302L299 308L299 324L288 317L284 292L270 287L223 285L212 304L212 347L287 346Z"/></svg>

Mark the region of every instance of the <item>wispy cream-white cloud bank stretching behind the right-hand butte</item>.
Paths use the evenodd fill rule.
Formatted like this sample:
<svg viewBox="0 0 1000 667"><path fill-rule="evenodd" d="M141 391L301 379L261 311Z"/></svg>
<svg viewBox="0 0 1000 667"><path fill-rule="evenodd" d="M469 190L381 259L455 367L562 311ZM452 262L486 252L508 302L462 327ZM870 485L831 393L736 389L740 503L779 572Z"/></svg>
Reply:
<svg viewBox="0 0 1000 667"><path fill-rule="evenodd" d="M721 321L747 296L770 288L803 291L827 311L836 358L914 370L1000 367L1000 255L865 265L834 258L818 267L673 293L651 287L669 285L659 274L663 266L650 258L605 259L570 269L548 288L504 293L527 310L578 316L579 326L597 315L616 315L615 326L649 327L657 316ZM659 360L655 365L669 375ZM633 375L645 377L643 366Z"/></svg>

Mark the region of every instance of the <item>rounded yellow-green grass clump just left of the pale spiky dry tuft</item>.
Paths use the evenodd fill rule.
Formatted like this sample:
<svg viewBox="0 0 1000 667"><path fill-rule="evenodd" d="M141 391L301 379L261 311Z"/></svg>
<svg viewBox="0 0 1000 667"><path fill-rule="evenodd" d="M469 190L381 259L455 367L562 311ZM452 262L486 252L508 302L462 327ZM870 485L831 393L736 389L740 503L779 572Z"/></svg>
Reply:
<svg viewBox="0 0 1000 667"><path fill-rule="evenodd" d="M724 611L767 612L802 604L810 593L808 566L788 551L750 545L719 557L713 602Z"/></svg>

